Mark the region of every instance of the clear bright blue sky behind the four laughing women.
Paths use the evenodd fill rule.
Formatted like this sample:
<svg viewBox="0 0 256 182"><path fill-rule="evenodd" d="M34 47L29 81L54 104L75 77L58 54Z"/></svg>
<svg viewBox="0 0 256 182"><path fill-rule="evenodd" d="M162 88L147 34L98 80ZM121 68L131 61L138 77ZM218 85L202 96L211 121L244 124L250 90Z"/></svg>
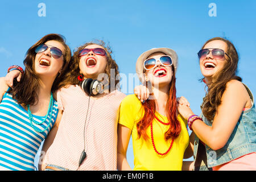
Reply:
<svg viewBox="0 0 256 182"><path fill-rule="evenodd" d="M39 16L39 3L46 16ZM209 16L216 5L216 15ZM177 96L187 97L200 114L205 95L196 53L216 36L231 40L240 55L238 75L256 94L256 1L1 1L0 76L10 65L22 65L29 47L44 35L64 35L71 49L93 39L109 42L119 71L135 73L142 52L168 47L177 52ZM24 67L23 67L24 68ZM129 90L133 90L133 86ZM133 167L131 142L127 152Z"/></svg>

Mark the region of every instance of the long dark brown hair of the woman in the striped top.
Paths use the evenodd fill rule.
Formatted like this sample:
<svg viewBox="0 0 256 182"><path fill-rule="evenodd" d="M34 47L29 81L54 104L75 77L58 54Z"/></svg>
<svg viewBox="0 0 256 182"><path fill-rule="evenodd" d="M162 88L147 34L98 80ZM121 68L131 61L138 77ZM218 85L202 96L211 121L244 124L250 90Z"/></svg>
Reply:
<svg viewBox="0 0 256 182"><path fill-rule="evenodd" d="M49 40L56 40L63 44L65 52L63 52L63 68L59 76L57 76L52 84L51 91L55 92L61 86L60 82L63 80L68 64L71 61L71 50L67 44L65 44L65 38L59 34L48 34L31 46L23 61L25 66L24 74L20 79L20 82L16 82L13 89L10 89L9 93L13 94L13 98L18 101L19 104L33 105L38 102L38 89L39 89L39 77L35 72L35 49L40 44L44 44Z"/></svg>

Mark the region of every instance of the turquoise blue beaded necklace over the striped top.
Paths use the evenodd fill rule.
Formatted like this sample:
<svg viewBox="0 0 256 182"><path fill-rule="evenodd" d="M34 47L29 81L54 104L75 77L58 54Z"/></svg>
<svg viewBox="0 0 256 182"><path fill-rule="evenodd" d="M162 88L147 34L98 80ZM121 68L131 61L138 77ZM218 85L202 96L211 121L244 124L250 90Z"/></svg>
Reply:
<svg viewBox="0 0 256 182"><path fill-rule="evenodd" d="M47 114L46 114L46 118L44 118L44 120L42 122L38 122L38 121L35 121L32 117L32 113L30 111L30 105L27 105L27 112L28 112L28 117L30 118L30 123L31 123L31 126L32 128L35 130L35 131L38 131L40 133L46 131L50 124L51 124L51 121L52 121L52 107L53 107L53 95L52 95L52 92L51 92L51 98L50 98L50 102L49 102L49 106L48 106L48 111L47 111ZM51 110L49 112L49 110ZM46 119L48 118L48 115L50 115L50 118L49 118L49 122L48 122L48 125L46 127L46 129L44 130L38 130L34 125L33 123L35 123L36 125L42 125L44 122L46 122Z"/></svg>

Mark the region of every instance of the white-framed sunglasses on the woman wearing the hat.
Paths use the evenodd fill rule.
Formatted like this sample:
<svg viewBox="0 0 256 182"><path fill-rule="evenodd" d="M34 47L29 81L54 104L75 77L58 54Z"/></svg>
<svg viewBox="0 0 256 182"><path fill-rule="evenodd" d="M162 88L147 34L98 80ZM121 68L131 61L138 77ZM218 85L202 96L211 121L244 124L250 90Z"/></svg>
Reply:
<svg viewBox="0 0 256 182"><path fill-rule="evenodd" d="M159 57L159 61L164 67L170 67L172 65L172 58L171 56L168 56L168 55ZM154 58L149 58L144 60L144 63L143 63L144 69L146 70L154 69L156 67L156 62L157 61Z"/></svg>

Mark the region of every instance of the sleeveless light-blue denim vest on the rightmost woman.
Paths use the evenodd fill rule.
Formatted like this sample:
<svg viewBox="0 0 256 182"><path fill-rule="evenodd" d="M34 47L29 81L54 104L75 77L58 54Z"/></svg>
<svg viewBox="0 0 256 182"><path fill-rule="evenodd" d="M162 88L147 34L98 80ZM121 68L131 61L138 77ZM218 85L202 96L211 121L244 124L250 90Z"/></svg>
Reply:
<svg viewBox="0 0 256 182"><path fill-rule="evenodd" d="M214 151L205 144L204 150L206 151L206 160L200 160L200 162L197 162L197 158L200 158L200 155L205 155L205 152L204 154L197 154L198 147L201 143L199 138L197 138L195 135L194 158L195 164L199 163L200 165L200 168L197 166L197 169L207 170L210 169L210 167L219 166L220 164L224 164L230 162L231 160L240 158L243 155L256 152L256 109L254 104L254 97L250 89L246 85L245 87L251 97L253 106L251 106L249 110L242 111L237 125L224 147ZM203 113L201 113L200 117L203 119L204 123L206 123L208 126L212 126L212 122L209 122L207 118L204 117Z"/></svg>

